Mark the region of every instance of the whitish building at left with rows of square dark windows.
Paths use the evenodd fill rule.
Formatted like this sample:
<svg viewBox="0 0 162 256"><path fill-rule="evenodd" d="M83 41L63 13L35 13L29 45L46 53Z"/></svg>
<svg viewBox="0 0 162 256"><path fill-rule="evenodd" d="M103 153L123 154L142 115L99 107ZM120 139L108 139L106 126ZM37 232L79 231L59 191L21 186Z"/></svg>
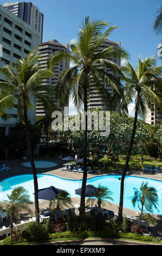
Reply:
<svg viewBox="0 0 162 256"><path fill-rule="evenodd" d="M39 33L28 23L12 14L0 4L0 45L3 54L0 57L0 69L5 65L13 66L16 59L27 57L28 53L39 46ZM5 81L0 75L0 81ZM36 105L35 99L30 101ZM0 118L0 133L8 135L19 121L17 115L17 105L8 111L10 119ZM28 111L28 117L32 124L35 124L35 110Z"/></svg>

